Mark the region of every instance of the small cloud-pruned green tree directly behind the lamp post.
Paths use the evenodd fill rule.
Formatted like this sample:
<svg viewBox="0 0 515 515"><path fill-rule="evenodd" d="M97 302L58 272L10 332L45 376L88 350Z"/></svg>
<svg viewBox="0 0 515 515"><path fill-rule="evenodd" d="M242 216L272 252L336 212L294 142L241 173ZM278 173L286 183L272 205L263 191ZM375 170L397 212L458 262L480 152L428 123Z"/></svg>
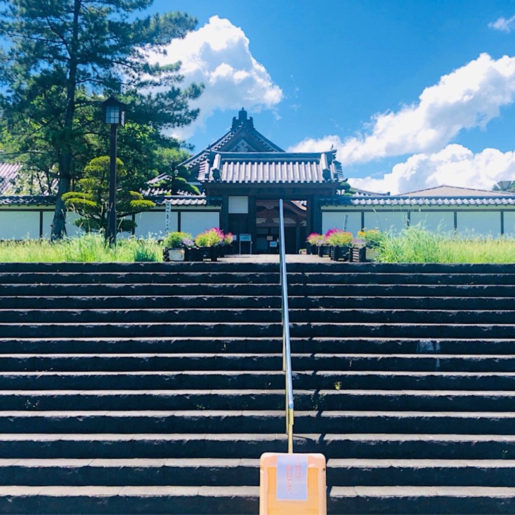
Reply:
<svg viewBox="0 0 515 515"><path fill-rule="evenodd" d="M107 229L109 165L108 156L92 159L84 167L84 177L77 182L81 191L62 195L66 209L79 215L73 223L85 232ZM119 186L116 192L117 229L118 232L131 232L136 227L135 222L124 218L148 211L156 204L151 200L145 200L141 193L124 189L131 183L132 174L127 172L124 163L119 159L116 165L116 178Z"/></svg>

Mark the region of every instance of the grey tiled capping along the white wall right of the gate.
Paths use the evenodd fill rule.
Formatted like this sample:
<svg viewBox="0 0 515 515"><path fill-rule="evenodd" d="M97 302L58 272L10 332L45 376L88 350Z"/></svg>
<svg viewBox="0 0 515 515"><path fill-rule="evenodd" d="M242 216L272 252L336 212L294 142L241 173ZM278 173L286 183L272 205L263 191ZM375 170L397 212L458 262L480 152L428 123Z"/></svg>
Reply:
<svg viewBox="0 0 515 515"><path fill-rule="evenodd" d="M408 196L390 196L390 197L327 197L320 199L322 205L401 205L401 206L423 206L423 205L441 205L441 206L460 206L460 205L515 205L515 196L499 196L499 197L408 197Z"/></svg>

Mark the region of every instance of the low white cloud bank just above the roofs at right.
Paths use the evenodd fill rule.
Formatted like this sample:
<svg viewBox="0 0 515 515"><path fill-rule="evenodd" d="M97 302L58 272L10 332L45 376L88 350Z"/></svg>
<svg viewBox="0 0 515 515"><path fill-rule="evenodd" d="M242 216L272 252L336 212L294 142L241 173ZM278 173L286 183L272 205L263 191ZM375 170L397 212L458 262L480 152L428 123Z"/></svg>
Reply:
<svg viewBox="0 0 515 515"><path fill-rule="evenodd" d="M500 180L515 177L515 152L485 148L474 154L461 145L448 145L436 153L419 153L393 166L382 179L350 178L352 186L363 190L406 193L448 184L491 190Z"/></svg>

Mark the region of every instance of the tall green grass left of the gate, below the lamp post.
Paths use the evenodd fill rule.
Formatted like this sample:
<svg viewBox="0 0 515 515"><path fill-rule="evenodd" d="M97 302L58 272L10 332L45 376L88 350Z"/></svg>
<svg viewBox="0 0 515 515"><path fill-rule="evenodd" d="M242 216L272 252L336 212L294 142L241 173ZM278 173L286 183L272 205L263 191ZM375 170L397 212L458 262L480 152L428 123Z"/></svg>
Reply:
<svg viewBox="0 0 515 515"><path fill-rule="evenodd" d="M151 238L118 239L111 249L100 234L85 234L50 243L45 239L0 242L0 263L161 261L162 246Z"/></svg>

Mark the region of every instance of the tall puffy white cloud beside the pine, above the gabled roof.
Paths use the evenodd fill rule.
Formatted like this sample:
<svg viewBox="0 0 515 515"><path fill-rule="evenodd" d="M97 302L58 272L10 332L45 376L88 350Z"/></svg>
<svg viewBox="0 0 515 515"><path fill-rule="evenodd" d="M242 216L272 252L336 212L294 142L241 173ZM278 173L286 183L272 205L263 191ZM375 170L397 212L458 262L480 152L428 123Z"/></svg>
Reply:
<svg viewBox="0 0 515 515"><path fill-rule="evenodd" d="M254 59L245 32L227 19L212 16L209 23L173 40L166 56L151 55L161 64L182 62L184 84L203 82L205 90L192 107L200 108L197 121L181 129L181 138L191 136L215 110L273 109L283 93L266 68Z"/></svg>

